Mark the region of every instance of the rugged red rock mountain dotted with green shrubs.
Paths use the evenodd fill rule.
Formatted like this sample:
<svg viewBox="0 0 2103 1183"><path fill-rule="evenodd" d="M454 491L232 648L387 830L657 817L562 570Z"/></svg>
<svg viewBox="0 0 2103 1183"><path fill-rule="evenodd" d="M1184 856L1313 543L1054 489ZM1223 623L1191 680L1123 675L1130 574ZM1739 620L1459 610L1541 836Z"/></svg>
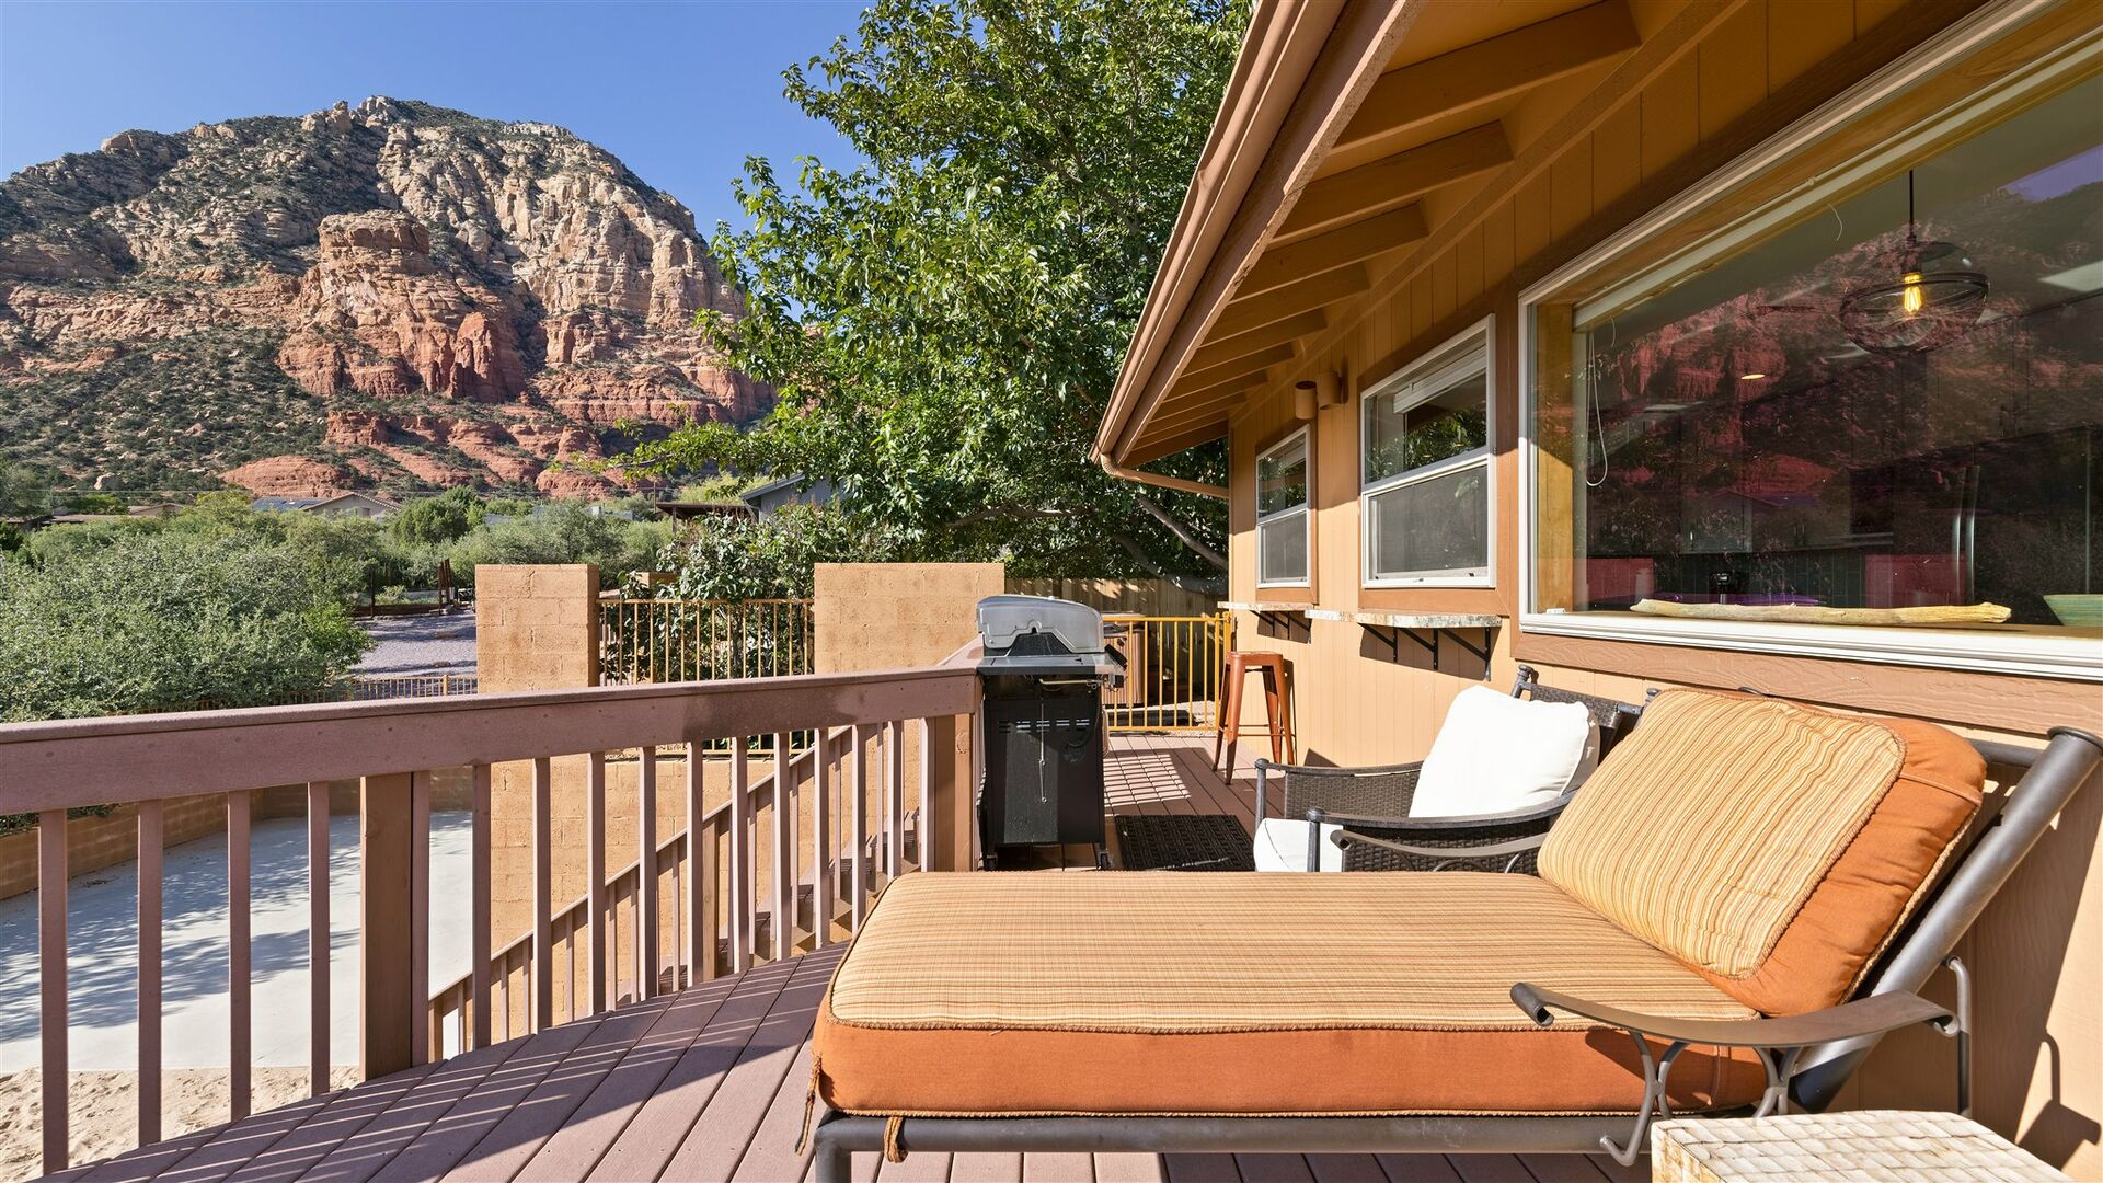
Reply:
<svg viewBox="0 0 2103 1183"><path fill-rule="evenodd" d="M397 99L128 131L0 183L0 455L76 482L604 493L772 392L694 217L549 124Z"/></svg>

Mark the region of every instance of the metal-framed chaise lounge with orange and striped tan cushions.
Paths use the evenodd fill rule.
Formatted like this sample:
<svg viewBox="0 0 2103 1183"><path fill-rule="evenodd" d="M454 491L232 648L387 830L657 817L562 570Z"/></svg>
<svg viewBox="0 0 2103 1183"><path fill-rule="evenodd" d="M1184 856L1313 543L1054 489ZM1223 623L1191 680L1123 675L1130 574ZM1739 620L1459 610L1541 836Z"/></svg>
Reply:
<svg viewBox="0 0 2103 1183"><path fill-rule="evenodd" d="M816 1177L915 1147L1630 1162L1659 1114L1819 1109L1884 1031L1962 1031L1916 991L2099 758L1666 690L1539 878L906 876L818 1015ZM2027 773L1987 796L1987 764Z"/></svg>

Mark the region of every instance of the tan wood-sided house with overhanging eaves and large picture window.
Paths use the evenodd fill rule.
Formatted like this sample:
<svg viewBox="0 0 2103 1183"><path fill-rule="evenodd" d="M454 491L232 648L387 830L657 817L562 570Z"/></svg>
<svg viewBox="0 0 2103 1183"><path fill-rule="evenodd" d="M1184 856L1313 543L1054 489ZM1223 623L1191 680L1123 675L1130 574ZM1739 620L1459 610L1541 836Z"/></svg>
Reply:
<svg viewBox="0 0 2103 1183"><path fill-rule="evenodd" d="M1316 764L1518 663L2036 745L2103 726L2099 219L2095 2L1258 4L1096 450L1228 499ZM1968 960L1979 1116L2099 1177L2078 800Z"/></svg>

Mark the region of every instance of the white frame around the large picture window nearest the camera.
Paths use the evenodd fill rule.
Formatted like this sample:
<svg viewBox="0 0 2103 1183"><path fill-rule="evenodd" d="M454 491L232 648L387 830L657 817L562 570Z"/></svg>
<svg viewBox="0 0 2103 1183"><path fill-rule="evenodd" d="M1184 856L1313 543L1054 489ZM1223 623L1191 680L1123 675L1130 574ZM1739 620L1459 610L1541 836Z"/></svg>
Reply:
<svg viewBox="0 0 2103 1183"><path fill-rule="evenodd" d="M1806 177L1783 196L1752 206L1733 223L1699 238L1687 250L1638 267L1634 274L1615 274L1615 265L1636 253L1642 242L1682 225L1706 206L1727 202L1739 185L1790 168L1790 158L1798 152L1844 133L1849 126L1859 126L1855 120L1874 114L1880 103L1903 101L1903 95L1924 78L1958 67L1964 57L1992 46L1994 40L2027 19L2029 13L2010 6L1981 11L1958 21L1941 36L1931 38L1914 53L1872 74L1518 293L1518 625L1523 634L2103 682L2103 653L2099 653L2103 646L2080 636L1674 619L1632 613L1571 613L1567 608L1541 610L1535 604L1539 587L1535 570L1539 522L1535 518L1541 467L1541 450L1535 442L1539 307L1596 305L1617 293L1647 290L1645 286L1670 282L1674 274L1731 257L1737 244L1769 227L1796 221L1804 210L1819 208L1825 194L1886 173L1895 162L1918 156L1922 149L1966 137L1971 128L1985 131L2021 112L2027 103L2092 76L2103 63L2103 38L2080 38L2055 46L1973 95L1899 124L1888 137L1851 156L1844 166ZM1567 295L1571 290L1590 295L1571 301Z"/></svg>

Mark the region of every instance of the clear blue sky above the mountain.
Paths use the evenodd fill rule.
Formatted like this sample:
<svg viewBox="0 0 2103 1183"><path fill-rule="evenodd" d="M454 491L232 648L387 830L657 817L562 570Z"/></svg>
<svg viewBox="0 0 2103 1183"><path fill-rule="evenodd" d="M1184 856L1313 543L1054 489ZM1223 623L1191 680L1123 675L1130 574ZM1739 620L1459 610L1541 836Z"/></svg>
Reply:
<svg viewBox="0 0 2103 1183"><path fill-rule="evenodd" d="M744 156L852 162L780 72L854 29L858 2L0 0L0 175L124 128L423 99L566 126L694 210L742 223Z"/></svg>

